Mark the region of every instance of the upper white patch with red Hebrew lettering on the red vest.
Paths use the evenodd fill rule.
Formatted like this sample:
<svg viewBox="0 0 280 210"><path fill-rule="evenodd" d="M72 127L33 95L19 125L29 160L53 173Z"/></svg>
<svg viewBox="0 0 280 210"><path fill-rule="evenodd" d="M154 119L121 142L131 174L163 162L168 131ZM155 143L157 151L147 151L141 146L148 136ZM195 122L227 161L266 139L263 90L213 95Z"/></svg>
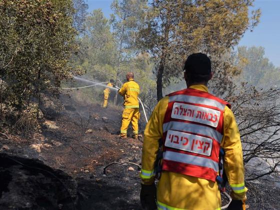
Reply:
<svg viewBox="0 0 280 210"><path fill-rule="evenodd" d="M220 112L218 110L178 102L173 104L171 114L174 119L199 122L213 127L218 126L219 116Z"/></svg>

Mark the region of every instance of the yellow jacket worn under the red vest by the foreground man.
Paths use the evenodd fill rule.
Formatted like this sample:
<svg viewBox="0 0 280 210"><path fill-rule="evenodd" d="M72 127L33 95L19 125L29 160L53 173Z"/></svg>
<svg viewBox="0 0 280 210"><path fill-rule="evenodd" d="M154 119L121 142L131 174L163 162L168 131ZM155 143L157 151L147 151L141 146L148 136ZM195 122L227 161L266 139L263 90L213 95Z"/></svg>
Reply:
<svg viewBox="0 0 280 210"><path fill-rule="evenodd" d="M204 85L191 88L208 91ZM154 181L154 162L162 137L163 117L168 104L168 96L163 97L154 108L145 127L142 148L141 182ZM244 169L239 130L232 111L225 106L223 117L223 138L220 146L225 150L224 167L232 188L233 199L245 200ZM217 182L179 173L162 171L157 184L158 209L220 209L221 199Z"/></svg>

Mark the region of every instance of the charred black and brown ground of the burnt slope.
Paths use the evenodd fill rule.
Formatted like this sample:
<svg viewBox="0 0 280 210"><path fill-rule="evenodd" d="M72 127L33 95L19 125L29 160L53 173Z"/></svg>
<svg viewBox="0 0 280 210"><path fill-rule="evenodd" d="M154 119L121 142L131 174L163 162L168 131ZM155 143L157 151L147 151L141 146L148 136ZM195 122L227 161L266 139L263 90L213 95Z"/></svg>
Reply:
<svg viewBox="0 0 280 210"><path fill-rule="evenodd" d="M141 209L137 166L113 164L103 174L113 161L140 164L142 139L116 138L121 108L62 99L50 117L57 128L0 136L0 209ZM247 209L280 209L279 188L247 185Z"/></svg>

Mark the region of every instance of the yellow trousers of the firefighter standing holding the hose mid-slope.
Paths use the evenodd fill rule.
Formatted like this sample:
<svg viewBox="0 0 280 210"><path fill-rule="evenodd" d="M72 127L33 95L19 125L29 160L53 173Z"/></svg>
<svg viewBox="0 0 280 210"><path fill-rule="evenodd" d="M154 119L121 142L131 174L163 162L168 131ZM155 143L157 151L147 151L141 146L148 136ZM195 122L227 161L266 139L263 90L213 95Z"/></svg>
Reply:
<svg viewBox="0 0 280 210"><path fill-rule="evenodd" d="M139 108L124 108L122 112L122 121L120 127L120 135L126 136L127 128L131 121L133 136L138 136L138 120L140 118Z"/></svg>

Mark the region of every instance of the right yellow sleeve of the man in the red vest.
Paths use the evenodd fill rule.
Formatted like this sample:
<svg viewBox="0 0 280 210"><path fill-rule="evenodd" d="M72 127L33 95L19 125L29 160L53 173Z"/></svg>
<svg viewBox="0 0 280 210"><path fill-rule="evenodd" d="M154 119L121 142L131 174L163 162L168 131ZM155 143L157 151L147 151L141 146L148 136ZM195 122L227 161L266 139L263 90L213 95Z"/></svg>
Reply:
<svg viewBox="0 0 280 210"><path fill-rule="evenodd" d="M234 200L246 200L247 188L244 185L243 153L240 133L232 111L226 106L224 109L223 139L224 169L228 183L232 189L231 197Z"/></svg>

